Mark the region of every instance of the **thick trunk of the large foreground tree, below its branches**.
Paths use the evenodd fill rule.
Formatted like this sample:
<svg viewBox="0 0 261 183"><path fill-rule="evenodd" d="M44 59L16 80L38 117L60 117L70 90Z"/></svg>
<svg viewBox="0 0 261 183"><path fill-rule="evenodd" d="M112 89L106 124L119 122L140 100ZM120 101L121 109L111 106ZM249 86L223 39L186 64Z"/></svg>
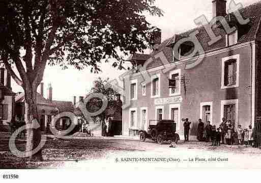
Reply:
<svg viewBox="0 0 261 183"><path fill-rule="evenodd" d="M34 119L37 119L39 123L39 116L37 112L37 88L26 87L25 92L25 113L24 120L26 124L31 124ZM34 129L26 129L26 151L34 150L41 142L41 128L40 123L39 127ZM42 161L42 150L39 150L35 154L30 155L30 161Z"/></svg>

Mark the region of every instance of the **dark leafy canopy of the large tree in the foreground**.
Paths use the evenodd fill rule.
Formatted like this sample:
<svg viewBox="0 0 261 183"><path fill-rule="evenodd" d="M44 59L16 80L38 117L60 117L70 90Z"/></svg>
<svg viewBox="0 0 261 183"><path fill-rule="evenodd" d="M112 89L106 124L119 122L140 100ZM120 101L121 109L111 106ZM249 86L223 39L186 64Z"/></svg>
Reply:
<svg viewBox="0 0 261 183"><path fill-rule="evenodd" d="M18 67L24 61L32 72L38 72L43 60L77 69L91 66L98 72L98 63L115 59L113 66L121 69L120 52L142 51L152 41L157 29L142 13L161 16L154 1L1 0L0 55Z"/></svg>

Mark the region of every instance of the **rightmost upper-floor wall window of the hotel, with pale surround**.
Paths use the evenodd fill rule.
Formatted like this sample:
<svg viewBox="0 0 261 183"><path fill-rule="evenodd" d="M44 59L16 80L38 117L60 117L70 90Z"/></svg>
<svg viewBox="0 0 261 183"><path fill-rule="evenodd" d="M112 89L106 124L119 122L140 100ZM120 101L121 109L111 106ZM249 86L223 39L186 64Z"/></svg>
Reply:
<svg viewBox="0 0 261 183"><path fill-rule="evenodd" d="M221 88L239 86L239 55L222 59L222 85Z"/></svg>

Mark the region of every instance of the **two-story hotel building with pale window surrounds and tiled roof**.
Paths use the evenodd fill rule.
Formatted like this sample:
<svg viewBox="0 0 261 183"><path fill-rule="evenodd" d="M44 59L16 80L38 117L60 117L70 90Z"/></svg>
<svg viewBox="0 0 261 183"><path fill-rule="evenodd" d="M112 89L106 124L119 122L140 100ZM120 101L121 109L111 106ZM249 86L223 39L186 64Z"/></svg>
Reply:
<svg viewBox="0 0 261 183"><path fill-rule="evenodd" d="M196 135L199 118L219 125L224 117L236 127L254 126L255 117L260 115L261 2L240 13L250 21L240 24L233 13L226 14L226 1L215 0L213 16L226 17L230 27L236 28L234 32L227 34L217 23L213 32L221 39L208 44L211 38L204 27L199 27L163 42L158 38L151 54L134 54L130 58L134 66L142 65L146 70L134 69L124 74L125 104L130 101L130 106L123 110L123 135L137 135L137 130L147 129L150 120L159 119L175 120L181 135L182 118L189 118L192 136ZM188 41L181 44L177 55L175 43L194 31L198 31L196 37L204 54L186 57L195 48ZM160 53L167 64L155 58ZM203 60L198 65L185 69L187 63L200 57ZM144 73L150 75L149 83L144 83Z"/></svg>

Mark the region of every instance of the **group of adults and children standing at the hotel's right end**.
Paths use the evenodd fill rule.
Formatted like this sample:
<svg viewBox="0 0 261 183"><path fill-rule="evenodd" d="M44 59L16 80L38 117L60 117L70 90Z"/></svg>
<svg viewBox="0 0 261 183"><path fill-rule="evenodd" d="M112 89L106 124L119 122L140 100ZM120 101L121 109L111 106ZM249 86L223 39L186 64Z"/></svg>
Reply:
<svg viewBox="0 0 261 183"><path fill-rule="evenodd" d="M211 125L210 121L207 125L202 122L201 119L198 120L197 126L197 139L199 141L212 142L213 146L219 146L221 144L240 144L240 145L253 145L253 129L249 125L247 129L243 129L239 124L238 128L235 130L231 120L222 119L222 122L217 127L216 125Z"/></svg>

